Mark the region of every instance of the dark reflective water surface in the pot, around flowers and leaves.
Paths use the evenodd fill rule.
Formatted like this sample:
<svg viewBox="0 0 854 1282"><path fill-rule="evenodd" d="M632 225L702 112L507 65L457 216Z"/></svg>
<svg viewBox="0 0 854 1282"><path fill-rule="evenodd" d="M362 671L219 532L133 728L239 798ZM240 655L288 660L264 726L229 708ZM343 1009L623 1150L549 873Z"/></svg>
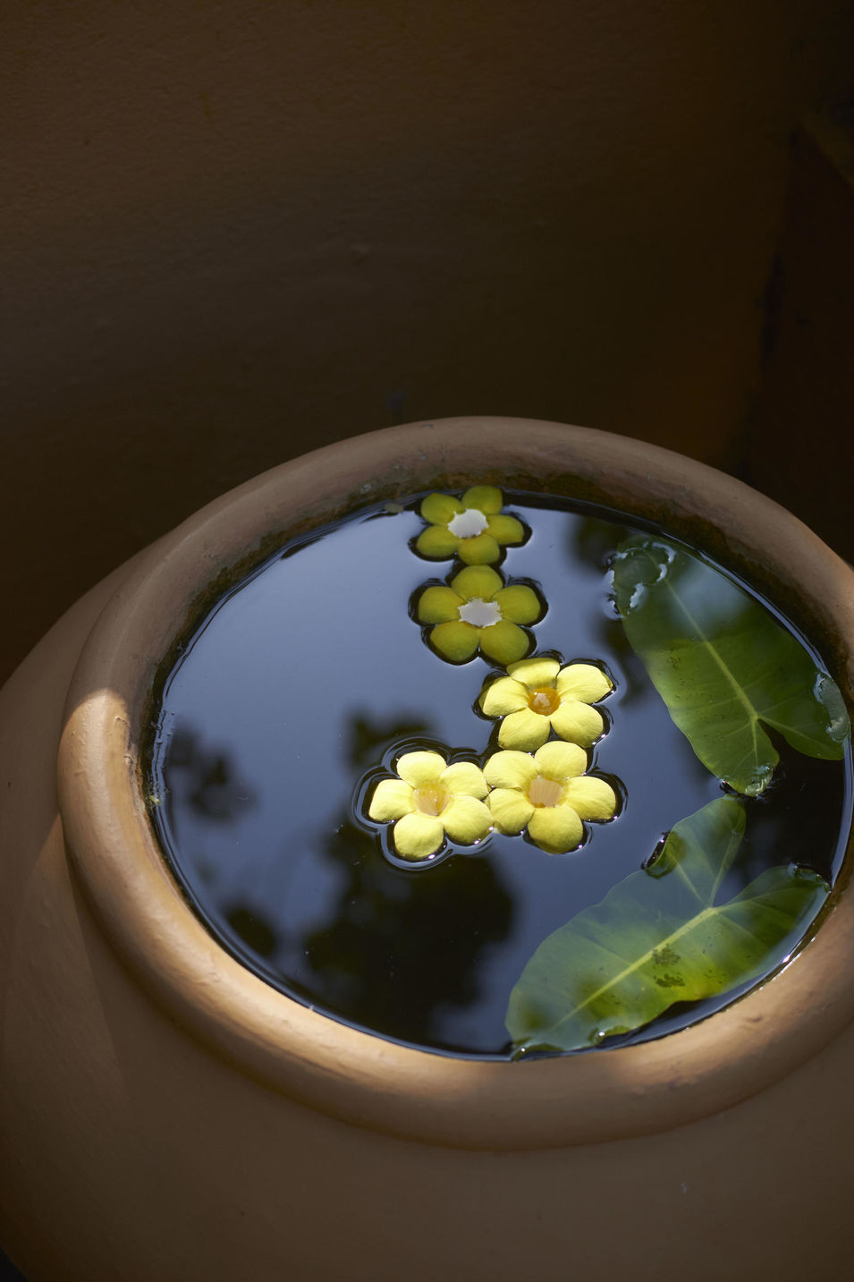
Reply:
<svg viewBox="0 0 854 1282"><path fill-rule="evenodd" d="M512 500L512 501L510 501ZM536 653L605 663L615 690L591 769L621 796L567 855L491 835L400 867L363 803L409 747L485 758L496 727L477 710L481 658L453 665L422 640L412 597L451 563L413 554L417 500L368 509L289 545L199 624L165 682L150 791L163 847L223 946L297 1000L433 1050L501 1056L508 995L546 935L596 904L663 833L722 788L673 726L609 600L608 559L630 532L591 513L508 496L532 529L507 578L548 612ZM455 565L454 569L459 569ZM850 823L850 754L818 762L780 744L774 782L748 805L737 894L790 859L836 876ZM660 1036L732 1000L635 1035Z"/></svg>

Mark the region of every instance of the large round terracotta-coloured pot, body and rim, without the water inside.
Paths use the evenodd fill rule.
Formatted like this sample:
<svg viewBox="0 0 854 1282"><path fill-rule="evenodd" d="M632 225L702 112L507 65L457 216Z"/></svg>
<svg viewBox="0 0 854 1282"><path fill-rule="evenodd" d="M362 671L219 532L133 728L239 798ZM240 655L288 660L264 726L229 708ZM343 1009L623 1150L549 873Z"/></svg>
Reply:
<svg viewBox="0 0 854 1282"><path fill-rule="evenodd" d="M6 686L3 1240L37 1279L831 1276L854 1246L854 897L742 1001L659 1041L451 1059L339 1024L206 935L138 744L200 605L296 531L473 482L663 524L759 587L851 708L854 577L721 473L618 436L451 419L363 436L205 508L76 605ZM850 853L849 853L850 854Z"/></svg>

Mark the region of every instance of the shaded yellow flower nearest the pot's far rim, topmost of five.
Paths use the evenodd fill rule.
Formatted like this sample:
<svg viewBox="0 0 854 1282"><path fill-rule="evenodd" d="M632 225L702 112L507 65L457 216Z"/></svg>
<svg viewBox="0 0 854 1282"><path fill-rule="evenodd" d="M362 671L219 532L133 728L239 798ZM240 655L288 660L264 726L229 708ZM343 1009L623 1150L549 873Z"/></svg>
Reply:
<svg viewBox="0 0 854 1282"><path fill-rule="evenodd" d="M521 544L524 526L501 514L504 496L491 485L476 485L462 500L428 494L421 514L430 524L415 540L415 550L433 560L459 556L467 565L490 565L504 544Z"/></svg>

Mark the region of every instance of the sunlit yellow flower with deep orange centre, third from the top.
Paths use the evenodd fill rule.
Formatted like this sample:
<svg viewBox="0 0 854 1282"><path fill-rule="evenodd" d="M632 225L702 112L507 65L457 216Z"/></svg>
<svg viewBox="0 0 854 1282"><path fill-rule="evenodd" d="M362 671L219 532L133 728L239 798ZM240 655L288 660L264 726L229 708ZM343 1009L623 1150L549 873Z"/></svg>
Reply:
<svg viewBox="0 0 854 1282"><path fill-rule="evenodd" d="M590 704L613 690L601 668L557 659L522 659L508 667L481 691L480 704L487 717L500 717L499 744L527 753L540 747L554 729L560 738L589 747L603 731L601 714Z"/></svg>

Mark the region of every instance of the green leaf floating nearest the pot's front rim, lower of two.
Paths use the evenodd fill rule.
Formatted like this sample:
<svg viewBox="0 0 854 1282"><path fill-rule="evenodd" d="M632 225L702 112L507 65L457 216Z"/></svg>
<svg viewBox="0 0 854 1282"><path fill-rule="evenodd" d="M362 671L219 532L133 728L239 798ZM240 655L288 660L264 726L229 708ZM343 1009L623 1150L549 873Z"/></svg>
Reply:
<svg viewBox="0 0 854 1282"><path fill-rule="evenodd" d="M744 803L712 801L676 824L650 868L549 935L510 994L517 1047L595 1046L780 965L830 887L809 869L769 868L716 906L744 824Z"/></svg>

